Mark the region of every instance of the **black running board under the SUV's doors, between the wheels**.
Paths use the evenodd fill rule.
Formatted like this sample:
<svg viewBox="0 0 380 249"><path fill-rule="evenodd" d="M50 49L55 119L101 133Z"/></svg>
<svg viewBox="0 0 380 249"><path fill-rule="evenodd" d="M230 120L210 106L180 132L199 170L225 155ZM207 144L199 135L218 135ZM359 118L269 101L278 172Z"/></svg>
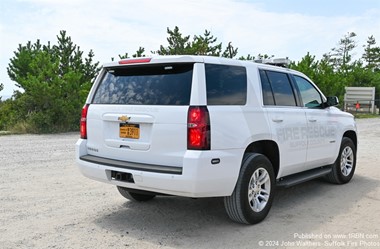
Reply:
<svg viewBox="0 0 380 249"><path fill-rule="evenodd" d="M297 173L290 176L281 177L277 180L276 186L282 188L289 188L291 186L310 181L312 179L327 175L331 172L331 166L322 168L311 169L305 172Z"/></svg>

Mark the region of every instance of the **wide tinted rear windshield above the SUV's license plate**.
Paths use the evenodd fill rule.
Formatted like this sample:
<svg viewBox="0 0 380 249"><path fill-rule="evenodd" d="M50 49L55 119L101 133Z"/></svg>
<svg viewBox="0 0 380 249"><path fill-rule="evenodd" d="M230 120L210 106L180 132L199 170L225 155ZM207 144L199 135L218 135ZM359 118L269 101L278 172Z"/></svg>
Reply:
<svg viewBox="0 0 380 249"><path fill-rule="evenodd" d="M107 68L94 104L189 105L193 63Z"/></svg>

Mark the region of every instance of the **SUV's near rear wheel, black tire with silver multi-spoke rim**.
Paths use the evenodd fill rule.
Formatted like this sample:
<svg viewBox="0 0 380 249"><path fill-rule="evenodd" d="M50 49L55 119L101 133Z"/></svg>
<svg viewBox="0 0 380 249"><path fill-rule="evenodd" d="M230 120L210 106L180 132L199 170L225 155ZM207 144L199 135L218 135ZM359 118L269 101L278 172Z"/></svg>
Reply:
<svg viewBox="0 0 380 249"><path fill-rule="evenodd" d="M256 224L269 213L275 193L275 176L267 157L245 154L234 192L224 197L228 216L238 223Z"/></svg>

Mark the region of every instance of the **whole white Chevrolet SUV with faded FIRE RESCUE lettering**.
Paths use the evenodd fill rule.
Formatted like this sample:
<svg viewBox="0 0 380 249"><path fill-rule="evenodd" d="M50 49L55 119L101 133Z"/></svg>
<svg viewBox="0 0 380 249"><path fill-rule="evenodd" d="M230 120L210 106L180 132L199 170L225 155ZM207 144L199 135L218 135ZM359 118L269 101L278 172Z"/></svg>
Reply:
<svg viewBox="0 0 380 249"><path fill-rule="evenodd" d="M263 220L278 186L351 180L357 133L300 72L207 56L104 65L81 117L81 172L126 198L224 197L231 219Z"/></svg>

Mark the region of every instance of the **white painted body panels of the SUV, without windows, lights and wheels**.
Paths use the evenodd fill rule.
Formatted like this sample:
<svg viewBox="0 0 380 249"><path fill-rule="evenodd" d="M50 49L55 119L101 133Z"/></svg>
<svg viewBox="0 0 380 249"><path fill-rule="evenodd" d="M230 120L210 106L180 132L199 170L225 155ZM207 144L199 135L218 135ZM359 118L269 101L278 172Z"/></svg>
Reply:
<svg viewBox="0 0 380 249"><path fill-rule="evenodd" d="M91 104L104 70L87 99L87 139L76 143L81 172L94 180L164 194L215 197L232 194L246 148L253 142L273 141L279 148L277 179L332 164L339 153L344 132L355 131L352 115L335 107L264 106L259 68L305 75L286 68L252 62L200 56L153 57L148 64L194 62L190 106L206 106L205 63L246 68L247 102L243 106L207 106L210 115L211 149L187 149L188 106L131 106ZM119 66L118 63L105 65ZM125 65L120 65L125 66ZM322 93L321 93L322 94ZM323 94L322 94L323 96ZM118 117L127 115L140 124L138 140L119 138ZM80 160L94 155L141 164L182 168L182 174L121 169ZM218 158L220 163L212 164ZM133 175L134 183L111 179L111 171Z"/></svg>

